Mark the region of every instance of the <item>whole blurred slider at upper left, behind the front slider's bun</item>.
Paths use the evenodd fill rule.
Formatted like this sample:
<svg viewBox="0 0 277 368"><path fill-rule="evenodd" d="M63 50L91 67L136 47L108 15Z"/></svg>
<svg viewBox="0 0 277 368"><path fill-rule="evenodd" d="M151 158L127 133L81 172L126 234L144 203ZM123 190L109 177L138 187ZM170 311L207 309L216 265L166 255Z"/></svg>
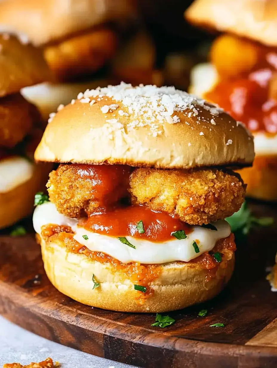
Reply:
<svg viewBox="0 0 277 368"><path fill-rule="evenodd" d="M43 120L79 91L107 85L90 81L118 48L121 28L135 16L133 0L1 0L0 29L21 33L43 49L52 83L24 88Z"/></svg>

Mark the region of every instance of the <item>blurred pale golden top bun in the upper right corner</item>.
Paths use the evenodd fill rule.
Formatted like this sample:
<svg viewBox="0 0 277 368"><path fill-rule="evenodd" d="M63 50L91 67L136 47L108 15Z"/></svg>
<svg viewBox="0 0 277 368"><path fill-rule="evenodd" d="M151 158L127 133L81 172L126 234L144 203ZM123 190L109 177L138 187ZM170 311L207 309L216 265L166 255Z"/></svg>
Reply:
<svg viewBox="0 0 277 368"><path fill-rule="evenodd" d="M276 0L195 0L185 18L198 26L277 46Z"/></svg>

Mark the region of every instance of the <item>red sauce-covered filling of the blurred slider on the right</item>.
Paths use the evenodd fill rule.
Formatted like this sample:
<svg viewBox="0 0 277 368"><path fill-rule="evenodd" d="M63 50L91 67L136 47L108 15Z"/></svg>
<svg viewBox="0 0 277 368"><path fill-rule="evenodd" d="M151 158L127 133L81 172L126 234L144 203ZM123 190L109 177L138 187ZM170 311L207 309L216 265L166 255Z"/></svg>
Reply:
<svg viewBox="0 0 277 368"><path fill-rule="evenodd" d="M227 36L225 36L227 38ZM231 36L228 36L229 38ZM219 82L213 89L205 93L204 98L217 103L234 119L242 121L251 131L266 131L277 133L277 48L266 47L233 37L237 42L244 42L251 47L255 54L254 62L249 68L238 66L236 61L237 50L232 50L231 58L227 60L230 73L222 70L223 61L214 57L215 66L219 72ZM221 53L227 52L222 42ZM230 50L228 50L230 52ZM222 57L223 57L222 56ZM246 55L247 56L247 55ZM245 56L245 58L246 58ZM217 65L217 60L219 65ZM244 58L241 57L241 63ZM234 65L235 64L235 65ZM237 74L234 68L237 66Z"/></svg>

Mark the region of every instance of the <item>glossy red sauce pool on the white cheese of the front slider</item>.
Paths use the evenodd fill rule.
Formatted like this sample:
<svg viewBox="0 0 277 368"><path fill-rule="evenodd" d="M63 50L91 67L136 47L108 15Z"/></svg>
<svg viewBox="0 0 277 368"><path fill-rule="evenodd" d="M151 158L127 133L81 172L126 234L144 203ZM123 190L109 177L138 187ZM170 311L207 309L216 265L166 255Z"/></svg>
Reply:
<svg viewBox="0 0 277 368"><path fill-rule="evenodd" d="M144 233L139 233L136 225L143 223ZM111 212L91 215L88 220L81 220L81 226L94 233L114 237L132 236L154 242L173 240L172 232L191 231L188 224L171 217L166 212L152 211L146 206L128 206L116 208Z"/></svg>

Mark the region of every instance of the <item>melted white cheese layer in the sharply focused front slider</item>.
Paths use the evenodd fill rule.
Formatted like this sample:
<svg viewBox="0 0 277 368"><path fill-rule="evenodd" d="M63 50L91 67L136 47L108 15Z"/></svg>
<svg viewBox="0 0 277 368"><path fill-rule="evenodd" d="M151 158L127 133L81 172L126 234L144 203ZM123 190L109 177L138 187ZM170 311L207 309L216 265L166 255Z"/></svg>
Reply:
<svg viewBox="0 0 277 368"><path fill-rule="evenodd" d="M99 251L118 259L123 263L166 263L173 261L188 262L198 257L204 252L213 249L216 242L230 235L231 229L225 220L219 220L213 223L217 231L206 229L201 226L193 226L191 233L186 239L172 240L163 243L154 243L152 241L126 236L126 239L136 247L136 249L122 244L116 237L93 233L77 226L78 220L71 219L59 213L56 206L47 202L37 206L33 214L33 226L37 233L41 233L41 227L46 224L58 224L70 226L75 232L74 239L80 244L85 245L91 251ZM83 236L86 235L88 240ZM193 242L197 240L200 252L195 253Z"/></svg>

